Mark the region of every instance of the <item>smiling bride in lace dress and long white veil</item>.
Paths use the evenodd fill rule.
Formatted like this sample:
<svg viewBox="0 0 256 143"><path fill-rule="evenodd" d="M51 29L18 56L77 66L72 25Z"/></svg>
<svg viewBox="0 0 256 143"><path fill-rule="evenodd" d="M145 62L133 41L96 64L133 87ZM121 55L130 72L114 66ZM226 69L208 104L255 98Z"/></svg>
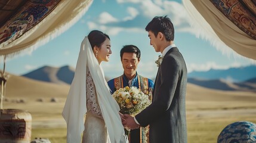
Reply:
<svg viewBox="0 0 256 143"><path fill-rule="evenodd" d="M98 30L92 30L81 43L62 113L67 122L68 143L81 142L83 131L82 142L125 142L120 109L110 95L100 66L101 61L109 61L110 47L109 36Z"/></svg>

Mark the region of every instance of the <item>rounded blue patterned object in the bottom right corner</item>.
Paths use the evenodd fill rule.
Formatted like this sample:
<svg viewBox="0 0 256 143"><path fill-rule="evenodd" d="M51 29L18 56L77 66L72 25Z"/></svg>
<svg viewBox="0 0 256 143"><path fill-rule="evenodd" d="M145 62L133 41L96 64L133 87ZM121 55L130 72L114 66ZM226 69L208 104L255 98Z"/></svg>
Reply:
<svg viewBox="0 0 256 143"><path fill-rule="evenodd" d="M240 121L226 126L218 135L218 143L256 142L256 124Z"/></svg>

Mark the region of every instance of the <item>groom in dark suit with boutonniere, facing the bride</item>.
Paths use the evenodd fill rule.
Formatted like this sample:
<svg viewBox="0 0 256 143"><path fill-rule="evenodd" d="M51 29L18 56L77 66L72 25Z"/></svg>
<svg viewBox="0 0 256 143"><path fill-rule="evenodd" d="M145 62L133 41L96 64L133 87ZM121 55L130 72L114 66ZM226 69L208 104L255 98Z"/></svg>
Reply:
<svg viewBox="0 0 256 143"><path fill-rule="evenodd" d="M171 20L155 17L146 26L150 45L162 53L153 90L152 104L135 117L125 114L123 125L134 129L150 127L150 143L186 143L186 85L187 68L183 56L174 45Z"/></svg>

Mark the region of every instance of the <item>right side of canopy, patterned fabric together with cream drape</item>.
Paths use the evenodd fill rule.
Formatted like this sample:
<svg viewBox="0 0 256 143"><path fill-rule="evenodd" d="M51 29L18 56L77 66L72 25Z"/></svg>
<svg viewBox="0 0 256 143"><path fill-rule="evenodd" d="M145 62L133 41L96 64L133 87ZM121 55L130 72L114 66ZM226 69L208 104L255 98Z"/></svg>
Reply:
<svg viewBox="0 0 256 143"><path fill-rule="evenodd" d="M256 1L183 0L193 26L225 54L256 60ZM230 48L232 50L230 50Z"/></svg>

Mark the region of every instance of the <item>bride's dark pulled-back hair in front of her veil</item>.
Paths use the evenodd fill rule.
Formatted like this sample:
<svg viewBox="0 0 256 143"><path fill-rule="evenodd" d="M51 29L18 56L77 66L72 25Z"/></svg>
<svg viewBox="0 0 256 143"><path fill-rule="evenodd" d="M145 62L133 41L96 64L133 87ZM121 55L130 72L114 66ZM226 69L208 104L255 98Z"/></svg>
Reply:
<svg viewBox="0 0 256 143"><path fill-rule="evenodd" d="M99 31L99 30L92 30L89 35L88 35L88 39L91 43L91 48L93 49L94 46L97 46L98 48L100 48L100 46L102 45L102 43L109 38L109 35ZM110 38L109 38L110 40Z"/></svg>

